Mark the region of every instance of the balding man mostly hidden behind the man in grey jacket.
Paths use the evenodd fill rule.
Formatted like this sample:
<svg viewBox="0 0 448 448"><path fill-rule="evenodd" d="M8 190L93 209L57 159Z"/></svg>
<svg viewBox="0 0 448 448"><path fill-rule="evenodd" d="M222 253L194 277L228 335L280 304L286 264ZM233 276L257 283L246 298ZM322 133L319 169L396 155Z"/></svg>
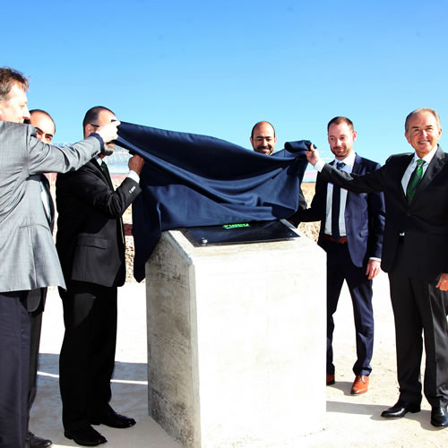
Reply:
<svg viewBox="0 0 448 448"><path fill-rule="evenodd" d="M51 143L56 132L56 125L53 118L45 111L41 109L30 110L30 125L36 129L36 136L40 142ZM42 189L42 202L47 215L48 225L53 232L55 226L55 205L50 193L50 184L45 175L37 175L39 177L41 189ZM28 392L28 420L30 421L31 407L36 398L37 392L37 378L38 378L38 365L39 365L39 342L40 332L42 329L42 312L44 311L45 299L47 297L47 288L39 289L40 295L39 306L31 311L30 324L30 390ZM52 442L49 439L34 435L28 430L27 442L30 448L46 448L51 446Z"/></svg>

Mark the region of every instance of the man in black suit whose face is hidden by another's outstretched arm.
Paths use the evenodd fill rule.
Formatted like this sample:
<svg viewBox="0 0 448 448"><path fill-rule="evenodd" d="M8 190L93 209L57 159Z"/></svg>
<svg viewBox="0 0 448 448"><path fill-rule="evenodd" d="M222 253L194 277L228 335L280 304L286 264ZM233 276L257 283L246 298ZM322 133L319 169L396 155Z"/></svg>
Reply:
<svg viewBox="0 0 448 448"><path fill-rule="evenodd" d="M84 135L116 121L108 108L91 108ZM113 152L108 146L108 153ZM116 288L125 283L125 234L122 215L141 193L143 159L129 159L129 175L116 190L104 156L56 180L56 248L67 290L60 290L65 337L60 356L60 388L65 436L96 446L106 438L91 425L134 426L108 401L116 352Z"/></svg>

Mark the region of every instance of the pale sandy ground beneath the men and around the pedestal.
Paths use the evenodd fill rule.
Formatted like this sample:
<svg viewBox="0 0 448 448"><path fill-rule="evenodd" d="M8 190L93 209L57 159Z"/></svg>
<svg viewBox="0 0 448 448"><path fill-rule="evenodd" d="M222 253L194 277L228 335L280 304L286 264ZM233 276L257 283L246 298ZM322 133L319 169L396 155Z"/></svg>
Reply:
<svg viewBox="0 0 448 448"><path fill-rule="evenodd" d="M308 191L309 190L309 191ZM311 196L314 185L304 188ZM309 201L309 197L307 197ZM314 228L308 228L315 237ZM175 448L179 445L148 416L146 303L144 283L134 281L119 289L116 371L112 406L134 417L137 425L118 430L99 426L109 447ZM383 409L398 398L395 342L388 280L383 272L374 281L375 349L370 390L360 396L349 394L354 379L355 331L349 292L344 286L335 314L334 357L336 383L327 387L325 429L300 439L297 447L443 447L448 446L448 428L429 423L430 406L423 399L422 411L399 420L380 417ZM30 429L53 440L54 446L76 446L65 438L58 389L58 353L64 335L62 306L56 289L50 289L40 344L39 391L32 410ZM304 366L306 368L306 366ZM324 373L316 372L316 381ZM312 387L313 384L306 385ZM303 387L303 384L300 385ZM297 403L300 406L301 403ZM297 425L299 422L297 422ZM215 448L215 447L213 447ZM220 447L216 447L220 448ZM275 448L275 447L274 447Z"/></svg>

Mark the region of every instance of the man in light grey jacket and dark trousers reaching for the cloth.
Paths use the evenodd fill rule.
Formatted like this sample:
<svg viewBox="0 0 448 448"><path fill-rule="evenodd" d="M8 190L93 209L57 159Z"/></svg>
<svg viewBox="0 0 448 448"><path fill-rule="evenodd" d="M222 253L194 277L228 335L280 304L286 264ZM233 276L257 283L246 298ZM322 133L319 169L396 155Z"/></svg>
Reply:
<svg viewBox="0 0 448 448"><path fill-rule="evenodd" d="M81 168L116 139L109 123L72 146L39 142L30 118L28 81L0 68L0 448L26 446L30 364L30 316L40 289L65 288L44 205L34 175ZM38 290L38 293L36 293Z"/></svg>

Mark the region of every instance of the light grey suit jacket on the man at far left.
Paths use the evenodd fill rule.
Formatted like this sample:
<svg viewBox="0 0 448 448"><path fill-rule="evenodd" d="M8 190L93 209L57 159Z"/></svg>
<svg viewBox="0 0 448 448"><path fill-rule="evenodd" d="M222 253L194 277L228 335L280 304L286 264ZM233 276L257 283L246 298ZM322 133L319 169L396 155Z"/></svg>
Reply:
<svg viewBox="0 0 448 448"><path fill-rule="evenodd" d="M31 125L2 121L0 148L0 291L65 287L33 175L80 168L99 153L99 139L58 148L39 142Z"/></svg>

